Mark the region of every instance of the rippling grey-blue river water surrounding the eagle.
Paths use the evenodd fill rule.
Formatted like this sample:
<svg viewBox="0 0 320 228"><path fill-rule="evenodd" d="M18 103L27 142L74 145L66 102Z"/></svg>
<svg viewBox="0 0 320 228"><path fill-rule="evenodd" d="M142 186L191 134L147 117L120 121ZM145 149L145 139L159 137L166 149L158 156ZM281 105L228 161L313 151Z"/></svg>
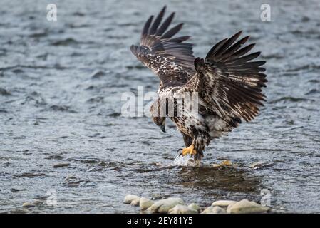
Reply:
<svg viewBox="0 0 320 228"><path fill-rule="evenodd" d="M319 1L271 1L272 21L253 0L55 2L51 22L52 1L1 1L0 212L138 212L122 204L128 193L205 207L259 202L266 190L280 212L320 212ZM158 88L129 47L162 4L185 22L195 56L243 30L267 61L261 115L205 151L205 165L236 168L175 166L183 142L172 124L161 133L149 118L120 115L123 92ZM51 189L56 207L44 203Z"/></svg>

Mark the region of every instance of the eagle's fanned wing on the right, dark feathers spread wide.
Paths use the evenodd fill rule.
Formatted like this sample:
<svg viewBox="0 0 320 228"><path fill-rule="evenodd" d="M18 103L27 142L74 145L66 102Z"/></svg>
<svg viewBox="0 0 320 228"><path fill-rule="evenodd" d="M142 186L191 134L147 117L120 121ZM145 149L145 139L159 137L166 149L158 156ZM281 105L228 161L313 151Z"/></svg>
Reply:
<svg viewBox="0 0 320 228"><path fill-rule="evenodd" d="M261 67L265 61L251 61L260 52L247 54L254 43L242 47L249 36L237 41L241 33L217 43L205 60L196 58L197 73L185 85L187 90L197 91L206 108L230 125L252 120L259 113L264 101L262 87L267 82Z"/></svg>

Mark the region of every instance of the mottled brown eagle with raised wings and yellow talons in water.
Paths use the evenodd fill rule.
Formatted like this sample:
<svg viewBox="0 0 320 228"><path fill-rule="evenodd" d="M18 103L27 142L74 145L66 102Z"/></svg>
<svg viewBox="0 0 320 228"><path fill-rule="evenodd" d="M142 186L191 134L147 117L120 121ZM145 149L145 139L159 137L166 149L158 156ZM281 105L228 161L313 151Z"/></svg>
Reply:
<svg viewBox="0 0 320 228"><path fill-rule="evenodd" d="M255 43L246 44L249 36L239 38L242 31L216 43L205 58L195 58L192 43L185 42L190 36L175 36L183 24L168 29L175 12L164 19L165 10L166 6L155 18L149 17L140 45L130 50L160 80L158 100L150 106L153 122L165 132L170 118L185 142L182 155L201 160L210 141L258 115L265 101L266 62L252 61L260 52L249 53ZM197 95L197 108L185 94ZM182 100L182 108L177 100Z"/></svg>

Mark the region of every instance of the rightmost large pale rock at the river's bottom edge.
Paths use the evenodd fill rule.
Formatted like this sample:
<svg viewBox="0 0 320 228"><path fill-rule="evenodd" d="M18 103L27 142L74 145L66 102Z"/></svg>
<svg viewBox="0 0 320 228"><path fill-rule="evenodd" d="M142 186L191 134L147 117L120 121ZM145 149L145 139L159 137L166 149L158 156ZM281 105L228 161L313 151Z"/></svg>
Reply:
<svg viewBox="0 0 320 228"><path fill-rule="evenodd" d="M264 207L257 202L252 202L247 199L243 199L240 202L233 204L228 208L230 214L252 214L252 213L264 213L269 210L269 207Z"/></svg>

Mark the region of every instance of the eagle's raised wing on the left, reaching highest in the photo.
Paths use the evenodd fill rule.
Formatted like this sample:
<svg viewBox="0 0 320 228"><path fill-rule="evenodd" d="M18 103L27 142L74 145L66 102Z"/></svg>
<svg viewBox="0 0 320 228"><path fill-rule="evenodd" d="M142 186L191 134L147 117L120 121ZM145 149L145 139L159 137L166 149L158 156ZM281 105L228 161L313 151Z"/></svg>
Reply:
<svg viewBox="0 0 320 228"><path fill-rule="evenodd" d="M180 86L194 76L195 57L192 43L183 43L190 36L173 38L183 24L167 31L175 13L170 14L161 24L165 9L163 7L154 21L153 16L150 16L143 28L140 46L133 45L130 49L145 66L159 76L160 86Z"/></svg>

